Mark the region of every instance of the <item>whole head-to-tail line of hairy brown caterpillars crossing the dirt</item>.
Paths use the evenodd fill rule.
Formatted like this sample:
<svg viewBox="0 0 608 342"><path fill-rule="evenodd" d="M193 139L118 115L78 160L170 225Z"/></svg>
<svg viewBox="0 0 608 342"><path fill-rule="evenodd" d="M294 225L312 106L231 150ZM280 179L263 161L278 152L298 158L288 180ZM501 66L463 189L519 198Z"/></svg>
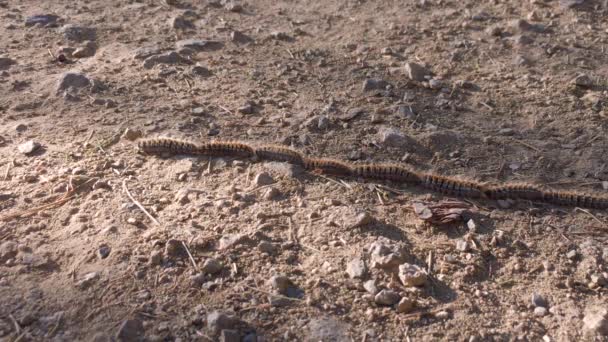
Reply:
<svg viewBox="0 0 608 342"><path fill-rule="evenodd" d="M154 155L205 155L215 157L257 157L260 160L288 162L307 170L338 177L361 177L396 183L411 183L450 196L514 199L545 202L562 206L608 209L608 197L570 191L545 190L528 183L484 184L416 172L398 164L357 164L336 159L308 157L285 146L252 146L239 141L212 141L202 144L172 139L152 138L140 141L139 150Z"/></svg>

